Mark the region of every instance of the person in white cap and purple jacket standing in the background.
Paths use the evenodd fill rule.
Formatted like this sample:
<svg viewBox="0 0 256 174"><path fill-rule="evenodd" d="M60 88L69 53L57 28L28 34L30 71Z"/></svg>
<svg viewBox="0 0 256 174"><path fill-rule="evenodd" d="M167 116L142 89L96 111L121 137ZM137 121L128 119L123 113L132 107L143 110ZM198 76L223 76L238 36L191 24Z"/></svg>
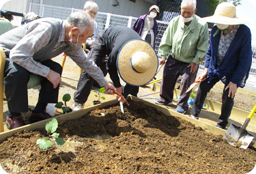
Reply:
<svg viewBox="0 0 256 174"><path fill-rule="evenodd" d="M141 38L150 43L154 48L156 44L156 35L158 33L158 24L156 22L156 16L158 16L160 10L157 5L152 5L148 14L139 16L132 29L136 31Z"/></svg>

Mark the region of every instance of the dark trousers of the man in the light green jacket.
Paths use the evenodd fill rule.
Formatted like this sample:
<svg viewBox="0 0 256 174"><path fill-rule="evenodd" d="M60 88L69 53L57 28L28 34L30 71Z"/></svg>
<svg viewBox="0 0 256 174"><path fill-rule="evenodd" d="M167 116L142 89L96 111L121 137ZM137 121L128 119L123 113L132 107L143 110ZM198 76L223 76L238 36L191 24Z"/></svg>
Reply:
<svg viewBox="0 0 256 174"><path fill-rule="evenodd" d="M162 102L169 103L173 100L173 90L175 88L177 78L182 76L180 101L177 102L177 106L184 108L185 111L188 111L188 98L192 92L190 91L186 93L186 89L188 89L188 87L195 81L197 76L197 71L193 74L190 73L188 65L189 63L177 61L176 59L173 59L173 57L169 56L165 63L160 87L160 98Z"/></svg>

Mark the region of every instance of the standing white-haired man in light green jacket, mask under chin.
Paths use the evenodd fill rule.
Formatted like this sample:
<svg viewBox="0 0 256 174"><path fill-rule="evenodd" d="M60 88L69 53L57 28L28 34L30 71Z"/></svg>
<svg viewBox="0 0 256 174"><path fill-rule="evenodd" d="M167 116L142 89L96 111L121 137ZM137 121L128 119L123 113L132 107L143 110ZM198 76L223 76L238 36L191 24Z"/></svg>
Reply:
<svg viewBox="0 0 256 174"><path fill-rule="evenodd" d="M191 91L186 93L186 89L195 81L198 64L205 59L208 49L208 25L195 15L196 5L196 0L182 1L181 15L170 21L158 48L158 54L162 58L159 64L165 64L165 67L160 98L155 103L171 105L177 78L182 76L180 101L175 108L178 113L188 111Z"/></svg>

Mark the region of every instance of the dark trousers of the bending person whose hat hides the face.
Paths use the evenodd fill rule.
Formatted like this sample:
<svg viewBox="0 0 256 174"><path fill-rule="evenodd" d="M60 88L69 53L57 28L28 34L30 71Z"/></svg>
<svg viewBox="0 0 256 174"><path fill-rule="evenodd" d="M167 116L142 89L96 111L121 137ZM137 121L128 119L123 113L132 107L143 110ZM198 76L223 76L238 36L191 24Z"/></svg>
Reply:
<svg viewBox="0 0 256 174"><path fill-rule="evenodd" d="M96 44L96 43L94 43ZM89 59L93 60L98 67L102 70L104 76L108 73L106 63L108 61L108 57L106 57L106 53L104 50L96 50L95 48L91 48L89 55ZM79 83L77 85L77 89L74 93L74 102L85 103L88 99L89 94L91 93L91 87L95 84L94 78L91 78L87 72L82 71ZM139 87L134 87L132 85L126 84L124 87L123 96L126 98L128 94L132 96L137 96L139 92Z"/></svg>

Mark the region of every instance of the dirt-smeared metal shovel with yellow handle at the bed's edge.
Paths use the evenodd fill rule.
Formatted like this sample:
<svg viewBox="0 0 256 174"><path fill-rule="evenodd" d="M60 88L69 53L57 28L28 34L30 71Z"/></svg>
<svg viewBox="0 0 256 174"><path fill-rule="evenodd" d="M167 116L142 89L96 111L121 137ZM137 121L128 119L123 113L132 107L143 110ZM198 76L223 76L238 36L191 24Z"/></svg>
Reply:
<svg viewBox="0 0 256 174"><path fill-rule="evenodd" d="M226 139L229 145L233 145L235 147L240 147L242 149L247 149L250 145L251 141L253 141L254 136L246 131L246 127L248 123L251 121L251 117L253 117L256 111L256 104L253 106L251 113L248 115L242 127L231 124L223 139Z"/></svg>

